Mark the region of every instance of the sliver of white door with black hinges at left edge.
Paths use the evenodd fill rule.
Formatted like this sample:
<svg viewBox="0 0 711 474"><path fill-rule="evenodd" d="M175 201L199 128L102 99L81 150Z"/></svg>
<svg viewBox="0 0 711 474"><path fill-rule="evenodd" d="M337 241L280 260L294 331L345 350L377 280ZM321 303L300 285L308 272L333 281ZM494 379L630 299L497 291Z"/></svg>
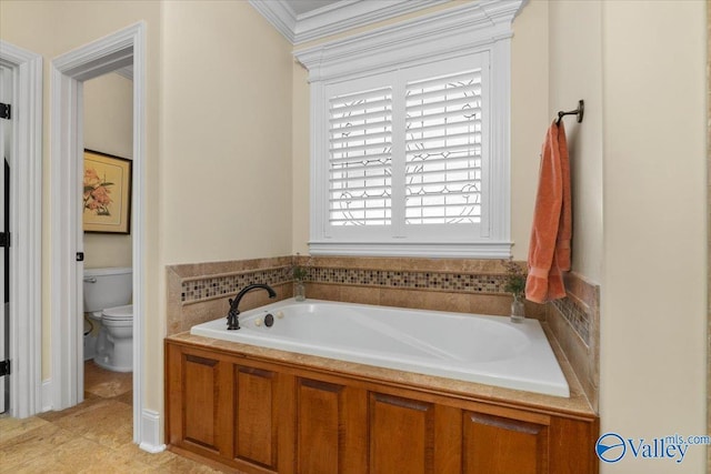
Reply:
<svg viewBox="0 0 711 474"><path fill-rule="evenodd" d="M12 71L0 67L0 103L11 105L12 93ZM11 109L10 109L11 110ZM7 109L3 109L7 113ZM3 115L4 115L3 113ZM1 115L0 115L1 117ZM11 112L10 112L11 118ZM10 232L10 139L12 122L8 118L0 118L0 233L2 233L2 245L0 245L0 361L10 360L10 249L7 240ZM0 366L0 374L6 369ZM9 375L0 376L0 413L4 413L9 407L10 384Z"/></svg>

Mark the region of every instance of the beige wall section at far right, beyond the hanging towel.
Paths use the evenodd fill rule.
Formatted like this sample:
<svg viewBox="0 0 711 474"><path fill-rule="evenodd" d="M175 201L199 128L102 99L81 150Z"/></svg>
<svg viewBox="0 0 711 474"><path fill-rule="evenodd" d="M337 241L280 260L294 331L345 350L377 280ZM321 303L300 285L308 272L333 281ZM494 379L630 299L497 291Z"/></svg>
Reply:
<svg viewBox="0 0 711 474"><path fill-rule="evenodd" d="M705 4L601 13L601 428L705 434ZM704 454L603 472L701 473Z"/></svg>

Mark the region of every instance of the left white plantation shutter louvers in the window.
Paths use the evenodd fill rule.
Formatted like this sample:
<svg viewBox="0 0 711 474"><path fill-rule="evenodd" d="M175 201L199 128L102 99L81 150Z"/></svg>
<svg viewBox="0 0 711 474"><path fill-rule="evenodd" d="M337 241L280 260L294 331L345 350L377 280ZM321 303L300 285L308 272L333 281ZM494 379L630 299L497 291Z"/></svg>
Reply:
<svg viewBox="0 0 711 474"><path fill-rule="evenodd" d="M329 100L329 223L390 225L392 88Z"/></svg>

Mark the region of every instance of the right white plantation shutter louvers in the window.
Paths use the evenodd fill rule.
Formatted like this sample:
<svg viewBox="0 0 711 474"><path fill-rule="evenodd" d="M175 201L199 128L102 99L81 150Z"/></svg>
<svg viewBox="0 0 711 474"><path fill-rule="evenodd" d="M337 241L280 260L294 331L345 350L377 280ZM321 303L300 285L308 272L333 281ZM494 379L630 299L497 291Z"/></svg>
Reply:
<svg viewBox="0 0 711 474"><path fill-rule="evenodd" d="M481 222L481 69L405 87L405 224Z"/></svg>

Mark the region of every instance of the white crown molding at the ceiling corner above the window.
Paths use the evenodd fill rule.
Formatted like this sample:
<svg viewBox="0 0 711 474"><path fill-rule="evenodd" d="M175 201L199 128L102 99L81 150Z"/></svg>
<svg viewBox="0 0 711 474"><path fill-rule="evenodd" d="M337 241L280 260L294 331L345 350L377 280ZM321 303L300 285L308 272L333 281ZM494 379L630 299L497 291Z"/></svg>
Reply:
<svg viewBox="0 0 711 474"><path fill-rule="evenodd" d="M341 0L308 13L296 14L287 0L249 0L294 46L448 1L450 0Z"/></svg>

